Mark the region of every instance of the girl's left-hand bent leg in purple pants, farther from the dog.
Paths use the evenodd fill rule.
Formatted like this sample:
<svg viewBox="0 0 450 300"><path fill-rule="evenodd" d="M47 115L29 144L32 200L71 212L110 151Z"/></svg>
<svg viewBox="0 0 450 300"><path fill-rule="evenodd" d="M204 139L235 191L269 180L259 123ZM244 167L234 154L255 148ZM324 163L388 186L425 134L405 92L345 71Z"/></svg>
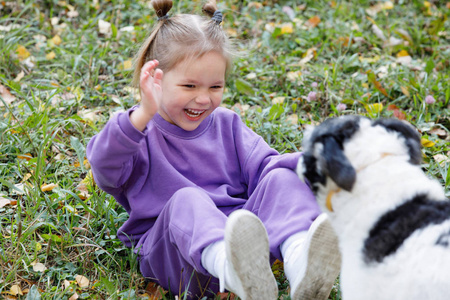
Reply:
<svg viewBox="0 0 450 300"><path fill-rule="evenodd" d="M203 268L201 251L223 239L226 219L202 190L177 191L142 244L142 274L176 295L189 290L197 299L217 293L218 280Z"/></svg>

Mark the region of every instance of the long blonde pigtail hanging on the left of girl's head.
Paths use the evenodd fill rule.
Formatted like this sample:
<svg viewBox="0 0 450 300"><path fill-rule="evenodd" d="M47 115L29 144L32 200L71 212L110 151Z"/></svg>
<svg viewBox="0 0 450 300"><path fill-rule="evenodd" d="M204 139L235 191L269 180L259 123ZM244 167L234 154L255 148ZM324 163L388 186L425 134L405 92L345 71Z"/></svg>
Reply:
<svg viewBox="0 0 450 300"><path fill-rule="evenodd" d="M158 24L150 33L150 36L141 45L134 58L134 72L131 84L132 86L137 88L139 87L141 78L141 69L147 61L153 59L152 57L150 57L150 53L152 52L151 50L153 48L153 41L155 40L156 34L158 33L161 26L165 21L168 20L168 13L172 9L173 2L172 0L152 0L151 4L156 12L156 16L158 17Z"/></svg>

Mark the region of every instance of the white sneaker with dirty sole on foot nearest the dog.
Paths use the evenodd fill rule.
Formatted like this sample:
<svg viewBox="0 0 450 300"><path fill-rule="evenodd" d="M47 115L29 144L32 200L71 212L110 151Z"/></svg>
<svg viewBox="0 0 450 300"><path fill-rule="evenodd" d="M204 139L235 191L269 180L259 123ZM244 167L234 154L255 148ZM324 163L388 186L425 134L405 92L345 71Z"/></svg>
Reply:
<svg viewBox="0 0 450 300"><path fill-rule="evenodd" d="M326 214L312 223L300 253L285 268L298 270L290 279L292 300L326 300L341 268L337 236ZM287 266L286 263L289 265ZM286 272L287 273L287 272Z"/></svg>

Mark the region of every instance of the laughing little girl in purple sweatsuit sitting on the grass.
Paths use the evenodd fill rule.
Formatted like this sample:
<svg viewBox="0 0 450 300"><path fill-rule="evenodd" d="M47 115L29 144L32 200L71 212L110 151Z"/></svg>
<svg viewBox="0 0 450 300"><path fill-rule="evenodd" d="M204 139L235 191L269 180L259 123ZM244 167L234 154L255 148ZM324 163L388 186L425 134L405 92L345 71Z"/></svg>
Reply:
<svg viewBox="0 0 450 300"><path fill-rule="evenodd" d="M203 8L210 18L169 16L171 0L152 5L158 23L134 73L141 103L87 147L98 186L129 214L119 238L142 274L174 294L277 299L279 259L291 299L327 299L340 256L293 171L301 154L280 155L219 107L233 49L215 1Z"/></svg>

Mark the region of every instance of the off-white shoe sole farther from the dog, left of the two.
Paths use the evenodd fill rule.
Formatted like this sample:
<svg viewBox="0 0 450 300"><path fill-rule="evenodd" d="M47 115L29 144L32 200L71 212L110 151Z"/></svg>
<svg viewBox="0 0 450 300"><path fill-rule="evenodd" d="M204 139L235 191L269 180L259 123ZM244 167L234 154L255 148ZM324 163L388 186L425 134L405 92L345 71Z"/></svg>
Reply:
<svg viewBox="0 0 450 300"><path fill-rule="evenodd" d="M269 261L269 238L261 220L249 211L238 210L229 216L225 232L227 257L246 296L242 299L277 299L278 286Z"/></svg>

